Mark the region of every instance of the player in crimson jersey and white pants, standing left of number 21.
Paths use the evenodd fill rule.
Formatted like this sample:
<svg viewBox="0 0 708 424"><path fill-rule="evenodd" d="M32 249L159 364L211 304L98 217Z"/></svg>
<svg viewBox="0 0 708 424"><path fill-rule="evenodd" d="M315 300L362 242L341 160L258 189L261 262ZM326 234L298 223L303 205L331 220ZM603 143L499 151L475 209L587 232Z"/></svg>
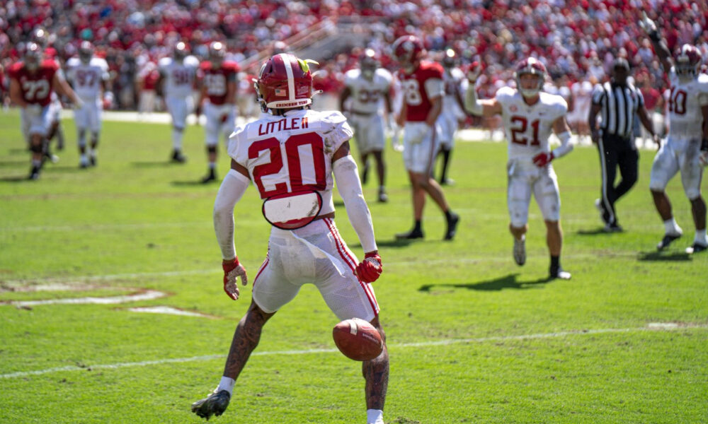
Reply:
<svg viewBox="0 0 708 424"><path fill-rule="evenodd" d="M435 154L440 143L437 119L442 111L442 66L423 61L425 51L418 37L404 35L394 42L394 55L401 65L398 73L403 92L403 105L398 123L404 126L404 164L411 180L413 195L413 230L396 234L399 239L423 237L423 207L430 195L447 219L443 240L452 240L459 216L450 210L440 184L432 176Z"/></svg>

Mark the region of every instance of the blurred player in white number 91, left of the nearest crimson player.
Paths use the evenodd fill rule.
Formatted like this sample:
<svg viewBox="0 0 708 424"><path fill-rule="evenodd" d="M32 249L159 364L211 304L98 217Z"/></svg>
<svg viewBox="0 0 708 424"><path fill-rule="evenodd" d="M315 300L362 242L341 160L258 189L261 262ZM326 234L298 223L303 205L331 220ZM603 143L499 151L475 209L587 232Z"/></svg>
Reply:
<svg viewBox="0 0 708 424"><path fill-rule="evenodd" d="M157 92L164 98L172 117L172 161L184 163L187 158L182 153L182 138L187 115L193 109L192 92L199 59L189 54L184 42L178 42L172 57L160 59L158 69L160 77L157 80Z"/></svg>

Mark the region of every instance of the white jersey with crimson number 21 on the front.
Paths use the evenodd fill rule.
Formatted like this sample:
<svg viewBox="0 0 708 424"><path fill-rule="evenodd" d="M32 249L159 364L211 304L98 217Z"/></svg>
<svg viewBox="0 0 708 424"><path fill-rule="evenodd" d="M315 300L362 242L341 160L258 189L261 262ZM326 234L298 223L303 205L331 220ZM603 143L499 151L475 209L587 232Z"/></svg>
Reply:
<svg viewBox="0 0 708 424"><path fill-rule="evenodd" d="M548 137L553 123L568 111L568 104L559 95L539 93L534 105L527 105L518 90L500 88L496 100L501 105L509 158L532 158L539 152L551 151Z"/></svg>

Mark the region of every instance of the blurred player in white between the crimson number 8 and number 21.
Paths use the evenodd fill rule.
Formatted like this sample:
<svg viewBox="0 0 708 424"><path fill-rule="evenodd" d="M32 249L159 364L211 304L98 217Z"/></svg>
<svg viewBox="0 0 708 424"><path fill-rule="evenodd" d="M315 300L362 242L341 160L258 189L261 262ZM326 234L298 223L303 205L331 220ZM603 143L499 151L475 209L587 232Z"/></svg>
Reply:
<svg viewBox="0 0 708 424"><path fill-rule="evenodd" d="M450 153L455 147L455 133L459 128L459 122L464 120L464 102L462 93L467 90L467 78L464 72L457 67L455 50L445 50L442 57L442 83L445 85L445 95L442 96L442 111L438 117L440 126L440 151L442 156L442 170L438 181L442 185L451 185L455 182L447 178L447 169L450 165Z"/></svg>

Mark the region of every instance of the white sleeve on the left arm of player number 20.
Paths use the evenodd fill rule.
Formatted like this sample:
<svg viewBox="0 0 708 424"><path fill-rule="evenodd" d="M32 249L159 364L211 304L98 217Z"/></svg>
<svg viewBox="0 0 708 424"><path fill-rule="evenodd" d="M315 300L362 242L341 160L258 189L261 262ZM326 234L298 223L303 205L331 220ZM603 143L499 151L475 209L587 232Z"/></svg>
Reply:
<svg viewBox="0 0 708 424"><path fill-rule="evenodd" d="M229 170L224 177L217 199L214 201L214 230L222 250L223 259L236 257L234 245L234 206L249 187L249 179L236 170Z"/></svg>

